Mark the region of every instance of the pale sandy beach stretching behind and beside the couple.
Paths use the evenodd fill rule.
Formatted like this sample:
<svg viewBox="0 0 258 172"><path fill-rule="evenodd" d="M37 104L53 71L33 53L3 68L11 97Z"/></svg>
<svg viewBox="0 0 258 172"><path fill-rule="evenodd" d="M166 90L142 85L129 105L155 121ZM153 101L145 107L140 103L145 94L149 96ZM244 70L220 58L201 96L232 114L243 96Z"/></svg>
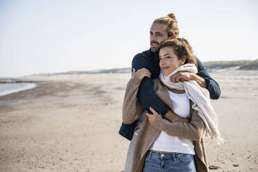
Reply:
<svg viewBox="0 0 258 172"><path fill-rule="evenodd" d="M257 71L221 69L212 105L225 144L205 139L210 171L258 171ZM130 74L33 76L37 87L0 96L0 171L123 171L118 134ZM22 101L21 101L22 100Z"/></svg>

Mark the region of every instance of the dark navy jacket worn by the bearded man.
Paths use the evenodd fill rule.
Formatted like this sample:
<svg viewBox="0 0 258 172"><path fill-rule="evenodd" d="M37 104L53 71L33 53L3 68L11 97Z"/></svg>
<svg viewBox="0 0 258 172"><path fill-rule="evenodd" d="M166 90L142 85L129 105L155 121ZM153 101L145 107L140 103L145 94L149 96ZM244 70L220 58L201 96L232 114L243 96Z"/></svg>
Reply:
<svg viewBox="0 0 258 172"><path fill-rule="evenodd" d="M207 69L203 66L198 58L196 58L198 73L197 75L205 79L206 88L209 91L209 96L212 99L218 99L221 96L221 89L218 83L211 76L209 76ZM141 80L141 85L137 93L137 98L139 103L144 107L145 110L150 112L150 107L162 115L164 118L166 112L170 109L163 103L163 101L153 92L153 79L160 76L160 59L158 53L153 53L150 51L144 51L135 55L132 60L132 69L136 71L141 68L146 68L151 73L151 78L144 77ZM131 124L122 123L119 130L119 134L127 139L131 140L133 133L135 131L137 121Z"/></svg>

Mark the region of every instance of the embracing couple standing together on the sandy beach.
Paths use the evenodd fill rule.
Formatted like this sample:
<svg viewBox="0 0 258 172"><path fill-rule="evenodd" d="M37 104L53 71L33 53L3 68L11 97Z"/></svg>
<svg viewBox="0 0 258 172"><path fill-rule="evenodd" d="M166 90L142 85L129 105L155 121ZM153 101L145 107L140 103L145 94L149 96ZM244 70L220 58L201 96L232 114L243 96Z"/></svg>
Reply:
<svg viewBox="0 0 258 172"><path fill-rule="evenodd" d="M223 141L209 100L221 90L178 34L175 15L155 19L150 49L132 60L119 130L130 140L125 172L208 171L203 138Z"/></svg>

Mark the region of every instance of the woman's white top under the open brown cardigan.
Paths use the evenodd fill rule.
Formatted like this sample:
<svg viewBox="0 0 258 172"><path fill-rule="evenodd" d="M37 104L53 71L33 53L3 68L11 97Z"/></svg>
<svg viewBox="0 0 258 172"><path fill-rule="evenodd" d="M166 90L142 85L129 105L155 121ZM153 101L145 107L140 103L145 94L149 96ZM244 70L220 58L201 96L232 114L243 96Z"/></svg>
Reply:
<svg viewBox="0 0 258 172"><path fill-rule="evenodd" d="M174 112L179 117L188 117L190 112L190 102L186 93L176 94L169 91L169 96L173 103ZM193 141L188 139L179 139L167 135L162 131L154 142L150 150L166 151L171 153L188 153L195 155Z"/></svg>

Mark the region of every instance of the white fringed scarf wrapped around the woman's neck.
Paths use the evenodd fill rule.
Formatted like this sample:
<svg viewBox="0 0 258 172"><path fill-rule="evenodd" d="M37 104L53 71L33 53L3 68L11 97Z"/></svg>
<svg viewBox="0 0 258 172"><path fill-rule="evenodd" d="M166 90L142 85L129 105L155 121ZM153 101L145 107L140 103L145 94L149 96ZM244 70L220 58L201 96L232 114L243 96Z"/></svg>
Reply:
<svg viewBox="0 0 258 172"><path fill-rule="evenodd" d="M188 71L196 74L197 68L195 65L188 63L175 69L169 76L164 76L161 71L160 80L171 89L185 90L188 98L193 101L193 110L198 111L200 118L203 119L205 123L207 129L206 135L215 139L218 144L223 143L221 133L218 130L218 117L209 100L209 92L207 89L200 87L195 80L173 83L170 77L178 71Z"/></svg>

